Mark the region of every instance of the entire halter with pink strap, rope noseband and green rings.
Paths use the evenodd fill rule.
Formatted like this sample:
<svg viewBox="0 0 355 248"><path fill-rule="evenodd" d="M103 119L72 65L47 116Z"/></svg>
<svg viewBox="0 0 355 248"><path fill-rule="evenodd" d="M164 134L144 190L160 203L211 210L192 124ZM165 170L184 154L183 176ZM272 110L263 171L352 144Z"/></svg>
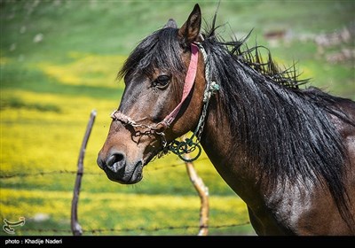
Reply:
<svg viewBox="0 0 355 248"><path fill-rule="evenodd" d="M199 58L199 48L201 50L201 53L203 55L204 61L205 61L205 78L206 78L206 87L203 93L203 108L202 108L202 113L200 116L199 123L197 125L197 128L193 132L193 136L190 138L186 138L185 141L177 141L173 140L169 145L165 139L165 130L167 128L170 128L171 123L176 119L177 113L180 111L181 106L184 104L186 97L190 94L191 89L193 89L193 83L196 78L196 72L197 72L197 63L198 63L198 58ZM210 79L210 74L209 74L209 62L207 59L207 53L206 50L204 50L203 46L201 43L192 43L191 44L191 60L189 67L187 69L187 74L185 77L185 84L184 84L184 90L183 90L183 97L181 98L180 103L175 107L175 109L168 114L164 120L160 121L157 123L155 126L149 126L146 124L138 124L135 120L132 120L129 116L125 115L124 113L116 110L111 114L111 118L113 120L118 120L122 122L124 126L130 126L132 128L142 128L142 130L136 130L135 136L150 136L150 135L158 135L162 139L162 148L163 148L163 153L166 154L169 151L172 151L173 153L177 154L177 156L184 160L185 162L191 162L193 160L196 160L200 157L201 155L201 145L200 145L200 139L201 139L201 133L202 129L204 126L204 120L207 115L207 108L209 105L209 98L215 93L216 90L219 89L219 85L215 81L211 81ZM197 141L193 142L193 137L196 137ZM192 159L185 159L183 154L193 152L195 150L198 150L198 153L196 156L194 156Z"/></svg>

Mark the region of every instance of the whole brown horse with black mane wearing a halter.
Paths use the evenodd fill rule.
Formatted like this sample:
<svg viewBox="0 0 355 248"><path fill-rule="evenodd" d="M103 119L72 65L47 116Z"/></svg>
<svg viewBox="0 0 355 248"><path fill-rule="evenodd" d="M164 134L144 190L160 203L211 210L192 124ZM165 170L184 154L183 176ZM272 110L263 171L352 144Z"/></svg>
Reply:
<svg viewBox="0 0 355 248"><path fill-rule="evenodd" d="M248 35L222 39L216 17L201 32L195 4L183 26L169 19L131 51L99 167L133 184L152 159L203 148L256 235L355 235L355 102L300 87L295 66L263 58Z"/></svg>

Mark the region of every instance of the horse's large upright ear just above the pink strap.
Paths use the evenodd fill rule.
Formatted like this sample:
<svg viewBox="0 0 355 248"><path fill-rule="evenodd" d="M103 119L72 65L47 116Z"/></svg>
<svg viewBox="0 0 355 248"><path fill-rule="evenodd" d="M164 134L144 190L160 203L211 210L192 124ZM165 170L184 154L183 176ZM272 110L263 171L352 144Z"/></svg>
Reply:
<svg viewBox="0 0 355 248"><path fill-rule="evenodd" d="M189 46L193 42L197 42L201 28L201 9L199 4L195 4L193 12L185 21L184 25L178 29L178 37L184 47Z"/></svg>

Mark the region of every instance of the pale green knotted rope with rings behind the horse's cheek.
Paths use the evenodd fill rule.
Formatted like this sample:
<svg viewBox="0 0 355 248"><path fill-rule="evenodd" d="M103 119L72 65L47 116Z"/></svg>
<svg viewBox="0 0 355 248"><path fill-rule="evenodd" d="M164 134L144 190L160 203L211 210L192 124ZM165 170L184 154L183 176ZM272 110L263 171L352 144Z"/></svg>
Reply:
<svg viewBox="0 0 355 248"><path fill-rule="evenodd" d="M207 116L207 109L209 107L209 99L212 97L217 90L219 90L219 85L216 81L212 81L210 77L210 65L209 59L206 50L202 46L201 43L196 43L201 50L204 62L205 62L205 79L206 79L206 87L203 92L203 107L202 113L200 116L200 120L197 124L196 129L193 132L193 135L190 138L186 138L185 141L177 141L173 140L166 148L165 153L168 151L172 151L174 154L178 156L178 158L182 159L185 162L192 162L198 159L201 155L201 134L205 125L205 119ZM193 141L193 138L196 138L196 141ZM191 153L197 150L197 154L190 159L185 159L184 154Z"/></svg>

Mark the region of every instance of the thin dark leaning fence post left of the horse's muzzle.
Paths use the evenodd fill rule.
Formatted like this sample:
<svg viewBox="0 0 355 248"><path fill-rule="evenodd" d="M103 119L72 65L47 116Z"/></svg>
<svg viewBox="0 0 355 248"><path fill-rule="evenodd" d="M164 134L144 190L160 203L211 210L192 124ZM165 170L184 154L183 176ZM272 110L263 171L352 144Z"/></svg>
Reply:
<svg viewBox="0 0 355 248"><path fill-rule="evenodd" d="M77 217L77 204L79 201L80 186L82 184L82 177L83 177L83 157L85 155L86 145L88 143L89 136L91 134L91 129L94 124L95 117L96 117L96 111L92 110L85 135L83 136L83 143L79 152L79 159L77 163L77 172L76 172L75 186L74 186L73 199L72 199L72 213L70 218L71 229L74 236L81 236L83 234L83 229L80 226Z"/></svg>

